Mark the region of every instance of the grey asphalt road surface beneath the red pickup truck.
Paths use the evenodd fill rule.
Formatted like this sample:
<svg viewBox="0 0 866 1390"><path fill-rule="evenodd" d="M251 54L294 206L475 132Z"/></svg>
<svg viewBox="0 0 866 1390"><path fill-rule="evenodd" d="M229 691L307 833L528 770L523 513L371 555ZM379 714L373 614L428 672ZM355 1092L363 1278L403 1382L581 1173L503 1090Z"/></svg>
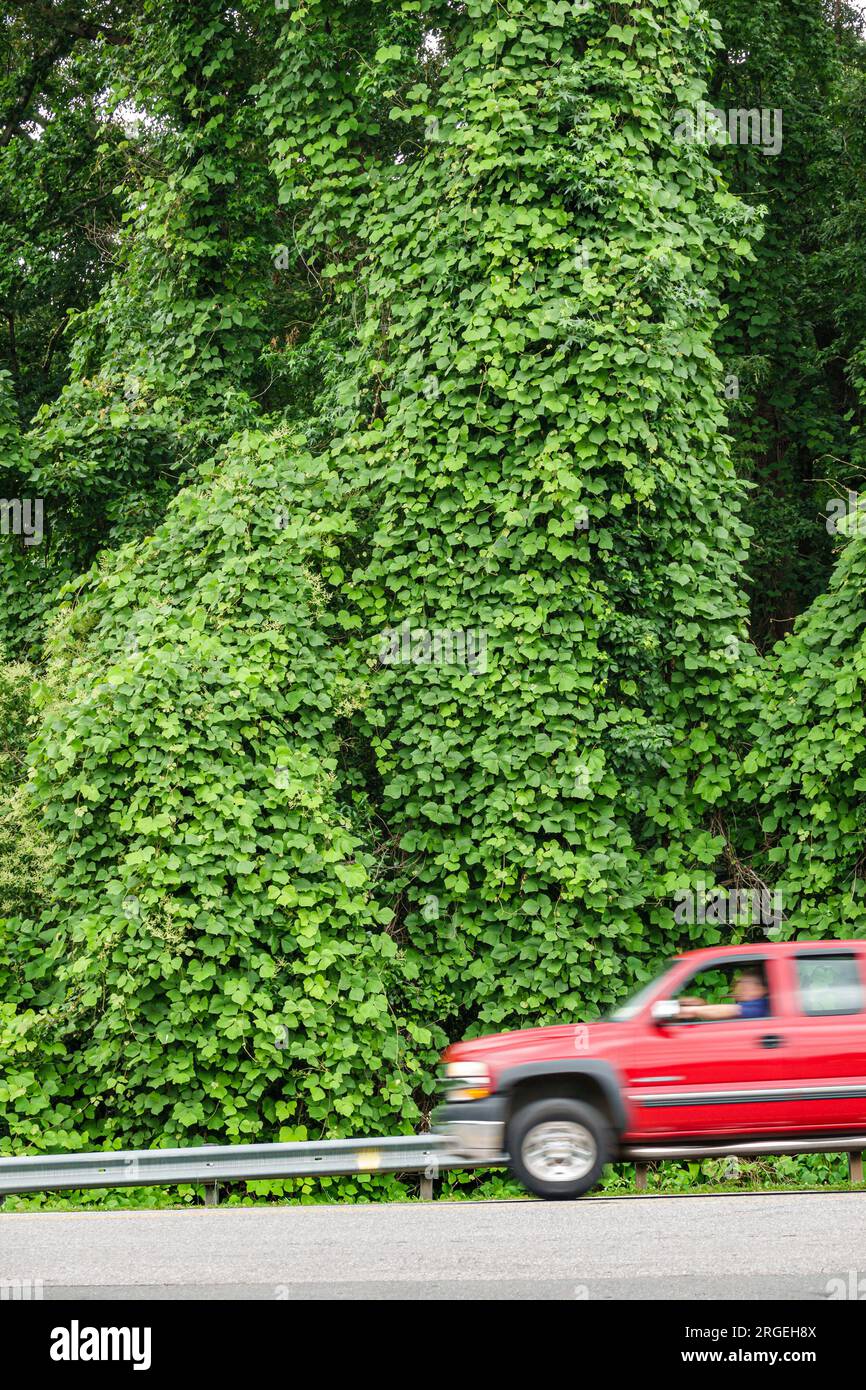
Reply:
<svg viewBox="0 0 866 1390"><path fill-rule="evenodd" d="M44 1298L808 1298L863 1280L866 1194L0 1213Z"/></svg>

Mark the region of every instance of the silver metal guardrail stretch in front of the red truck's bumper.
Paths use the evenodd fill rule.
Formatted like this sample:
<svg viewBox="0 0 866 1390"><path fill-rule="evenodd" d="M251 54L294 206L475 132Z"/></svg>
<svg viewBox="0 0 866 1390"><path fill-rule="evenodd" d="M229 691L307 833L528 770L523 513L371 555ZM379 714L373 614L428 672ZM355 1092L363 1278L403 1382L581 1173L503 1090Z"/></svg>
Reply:
<svg viewBox="0 0 866 1390"><path fill-rule="evenodd" d="M423 1173L424 1188L449 1162L436 1134L393 1138L332 1138L293 1144L227 1144L196 1148L118 1150L100 1154L28 1154L0 1158L0 1201L11 1193L86 1187L157 1187L204 1183L206 1200L218 1200L224 1183L274 1177L336 1177L352 1173Z"/></svg>

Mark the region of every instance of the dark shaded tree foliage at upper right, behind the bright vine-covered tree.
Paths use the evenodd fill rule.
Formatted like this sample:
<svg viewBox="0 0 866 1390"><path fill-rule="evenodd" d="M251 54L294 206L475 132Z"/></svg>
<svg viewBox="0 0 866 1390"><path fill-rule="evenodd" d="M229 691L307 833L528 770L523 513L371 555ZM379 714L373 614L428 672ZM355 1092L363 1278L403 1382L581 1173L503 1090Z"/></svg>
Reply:
<svg viewBox="0 0 866 1390"><path fill-rule="evenodd" d="M720 0L712 8L724 43L713 104L770 107L783 126L777 156L760 145L720 152L728 185L766 208L719 346L740 385L731 427L737 471L753 482L751 631L766 649L826 588L833 550L820 516L830 498L856 486L863 51L852 31L834 32L820 4Z"/></svg>

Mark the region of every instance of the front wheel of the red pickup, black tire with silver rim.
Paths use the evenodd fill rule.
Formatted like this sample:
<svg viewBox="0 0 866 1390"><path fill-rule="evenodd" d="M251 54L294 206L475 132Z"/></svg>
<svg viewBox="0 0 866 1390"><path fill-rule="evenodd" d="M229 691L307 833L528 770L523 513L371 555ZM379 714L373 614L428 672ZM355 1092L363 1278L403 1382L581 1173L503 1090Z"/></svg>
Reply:
<svg viewBox="0 0 866 1390"><path fill-rule="evenodd" d="M539 1133L542 1126L548 1129ZM580 1133L563 1129L557 1140L555 1126L578 1126ZM545 1144L549 1150L548 1159L544 1154ZM589 1165L585 1170L578 1156L580 1145ZM548 1201L573 1201L598 1184L605 1163L610 1159L613 1136L607 1120L596 1109L563 1097L532 1101L518 1109L509 1123L507 1147L512 1172L528 1191ZM556 1175L557 1148L563 1152L560 1176ZM545 1168L549 1172L546 1177Z"/></svg>

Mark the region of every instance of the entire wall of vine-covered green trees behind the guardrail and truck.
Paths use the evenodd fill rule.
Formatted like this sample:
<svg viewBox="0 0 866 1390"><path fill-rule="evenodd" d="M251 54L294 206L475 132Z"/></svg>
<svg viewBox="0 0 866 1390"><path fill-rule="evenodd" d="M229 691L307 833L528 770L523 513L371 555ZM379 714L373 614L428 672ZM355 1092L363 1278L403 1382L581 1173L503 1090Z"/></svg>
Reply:
<svg viewBox="0 0 866 1390"><path fill-rule="evenodd" d="M862 930L853 14L7 11L0 1148L411 1129L705 880Z"/></svg>

